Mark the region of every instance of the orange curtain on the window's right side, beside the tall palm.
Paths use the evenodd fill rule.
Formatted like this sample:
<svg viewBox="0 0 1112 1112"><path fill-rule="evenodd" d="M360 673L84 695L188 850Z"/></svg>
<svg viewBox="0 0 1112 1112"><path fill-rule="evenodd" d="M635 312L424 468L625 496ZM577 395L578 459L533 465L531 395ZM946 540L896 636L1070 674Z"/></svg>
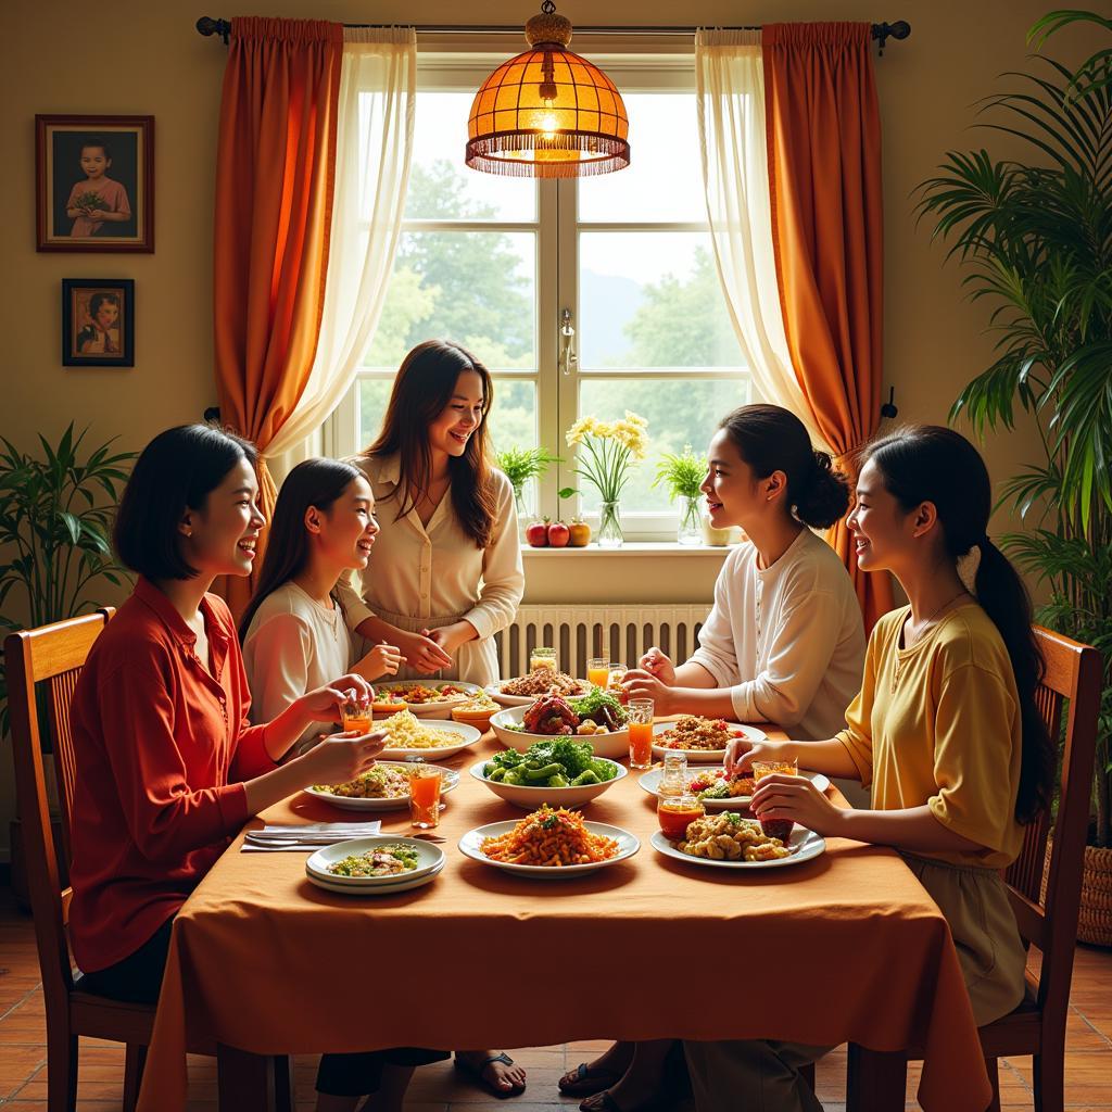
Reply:
<svg viewBox="0 0 1112 1112"><path fill-rule="evenodd" d="M765 24L773 247L784 329L811 416L851 476L881 415L881 120L868 23ZM857 568L844 522L827 537L871 629L887 573Z"/></svg>

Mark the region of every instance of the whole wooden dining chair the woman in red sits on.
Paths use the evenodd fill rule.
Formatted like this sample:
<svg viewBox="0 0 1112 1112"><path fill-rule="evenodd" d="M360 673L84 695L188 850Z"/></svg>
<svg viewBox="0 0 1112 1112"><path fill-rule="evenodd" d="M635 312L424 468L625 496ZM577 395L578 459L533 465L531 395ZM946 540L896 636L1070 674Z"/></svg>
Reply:
<svg viewBox="0 0 1112 1112"><path fill-rule="evenodd" d="M89 649L112 614L111 608L106 608L38 629L20 631L4 641L16 792L47 1013L48 1112L73 1112L77 1106L80 1035L126 1045L123 1110L131 1112L139 1096L155 1022L155 1009L149 1005L127 1004L81 991L81 974L73 969L67 934L72 890L61 886L43 777L39 684L46 685L62 820L60 848L68 872L76 772L70 699ZM275 1059L275 1094L279 1110L289 1112L292 1092L286 1058Z"/></svg>

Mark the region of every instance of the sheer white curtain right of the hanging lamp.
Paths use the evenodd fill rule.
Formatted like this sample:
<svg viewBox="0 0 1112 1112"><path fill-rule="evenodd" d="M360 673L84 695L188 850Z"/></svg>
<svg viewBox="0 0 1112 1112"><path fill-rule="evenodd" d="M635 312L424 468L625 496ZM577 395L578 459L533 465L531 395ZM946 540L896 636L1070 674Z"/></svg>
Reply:
<svg viewBox="0 0 1112 1112"><path fill-rule="evenodd" d="M811 419L792 368L776 279L759 31L695 36L699 145L714 257L756 393L791 409L812 441L828 446Z"/></svg>

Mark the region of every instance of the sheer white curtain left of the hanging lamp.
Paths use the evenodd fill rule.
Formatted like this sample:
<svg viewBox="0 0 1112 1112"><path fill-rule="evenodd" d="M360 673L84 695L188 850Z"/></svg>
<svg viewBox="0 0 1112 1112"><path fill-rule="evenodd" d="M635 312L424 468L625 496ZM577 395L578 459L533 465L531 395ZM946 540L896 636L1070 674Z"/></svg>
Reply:
<svg viewBox="0 0 1112 1112"><path fill-rule="evenodd" d="M405 211L416 96L413 28L345 30L320 340L305 391L267 453L276 474L319 454L320 426L374 338Z"/></svg>

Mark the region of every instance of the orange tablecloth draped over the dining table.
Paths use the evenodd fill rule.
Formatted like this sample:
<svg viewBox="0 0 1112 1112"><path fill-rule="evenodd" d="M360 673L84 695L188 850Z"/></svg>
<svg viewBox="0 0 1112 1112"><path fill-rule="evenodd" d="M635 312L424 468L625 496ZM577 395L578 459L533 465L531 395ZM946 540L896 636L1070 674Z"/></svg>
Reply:
<svg viewBox="0 0 1112 1112"><path fill-rule="evenodd" d="M576 881L524 880L456 845L524 814L467 774L498 747L484 739L444 762L461 773L440 820L448 863L424 887L332 895L306 880L307 854L232 845L175 924L140 1112L183 1109L187 1045L281 1054L666 1036L920 1045L923 1108L983 1112L991 1091L949 927L895 853L832 838L821 857L764 873L684 865L648 844L655 801L634 773L586 817L635 833L639 854ZM353 814L299 795L264 817ZM408 832L405 811L380 817L384 833ZM685 975L697 1006L664 1006Z"/></svg>

